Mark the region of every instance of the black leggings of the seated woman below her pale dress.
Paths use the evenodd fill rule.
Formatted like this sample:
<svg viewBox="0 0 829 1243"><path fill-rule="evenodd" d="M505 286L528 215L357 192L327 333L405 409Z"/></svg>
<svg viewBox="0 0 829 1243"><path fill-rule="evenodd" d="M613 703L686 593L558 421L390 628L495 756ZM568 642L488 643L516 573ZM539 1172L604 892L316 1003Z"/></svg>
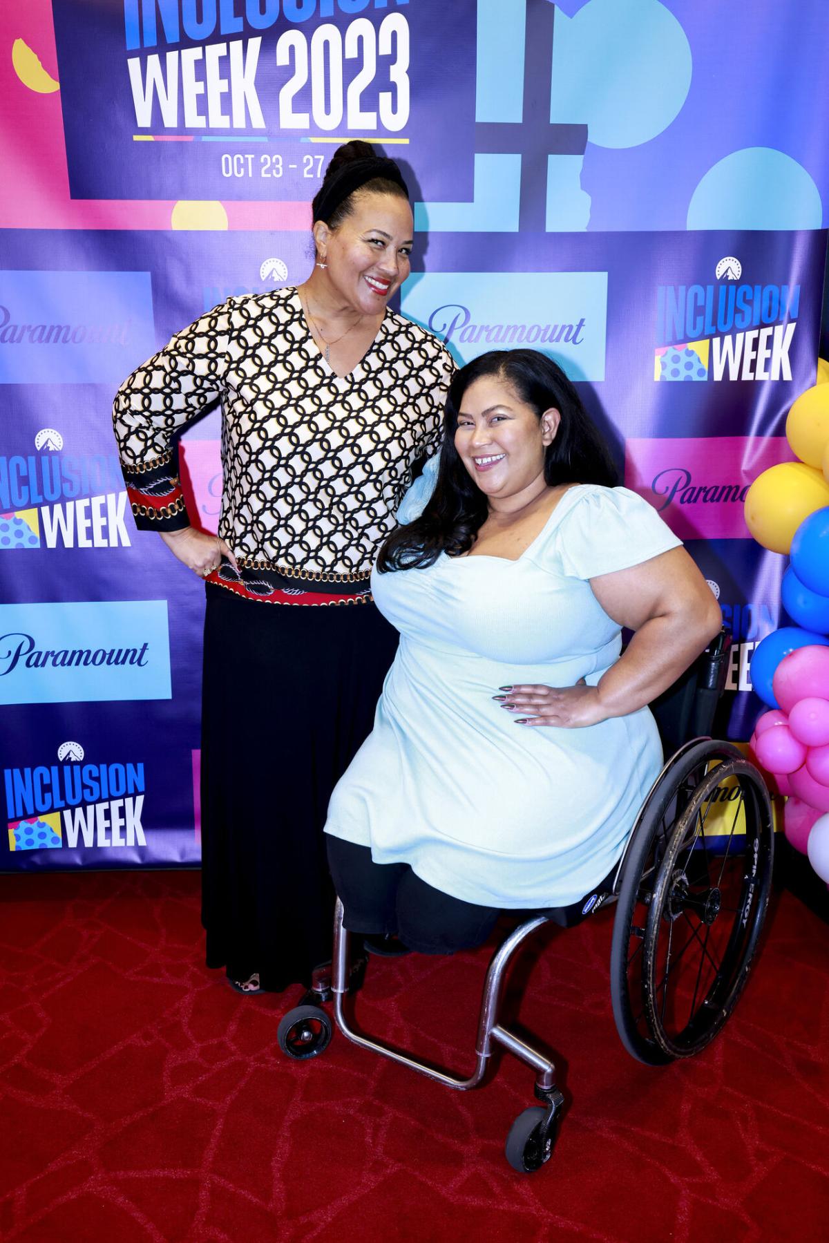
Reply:
<svg viewBox="0 0 829 1243"><path fill-rule="evenodd" d="M328 835L328 865L344 907L349 932L398 936L419 953L454 953L482 945L502 914L477 906L428 885L406 863L374 863L368 846ZM615 871L615 866L613 869ZM613 871L590 894L569 906L543 911L554 924L572 927L602 905L611 889ZM524 914L529 917L531 912Z"/></svg>

